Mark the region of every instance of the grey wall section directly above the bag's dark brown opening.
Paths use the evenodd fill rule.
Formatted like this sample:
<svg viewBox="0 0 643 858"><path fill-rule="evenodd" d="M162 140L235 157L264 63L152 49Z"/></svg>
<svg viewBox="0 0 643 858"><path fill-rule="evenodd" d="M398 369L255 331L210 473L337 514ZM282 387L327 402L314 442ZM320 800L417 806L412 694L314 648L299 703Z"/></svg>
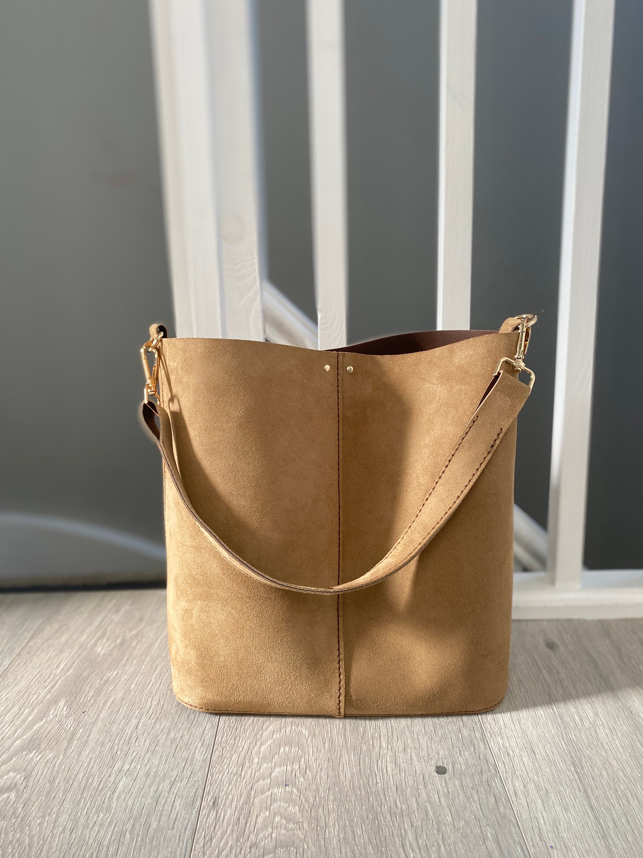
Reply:
<svg viewBox="0 0 643 858"><path fill-rule="evenodd" d="M349 339L436 322L436 3L348 0Z"/></svg>

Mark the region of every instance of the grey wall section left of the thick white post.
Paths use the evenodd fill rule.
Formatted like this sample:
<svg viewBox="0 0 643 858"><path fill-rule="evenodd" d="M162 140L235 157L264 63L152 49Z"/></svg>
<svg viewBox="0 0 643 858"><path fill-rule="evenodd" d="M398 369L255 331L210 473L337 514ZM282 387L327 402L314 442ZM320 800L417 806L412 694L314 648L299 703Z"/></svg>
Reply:
<svg viewBox="0 0 643 858"><path fill-rule="evenodd" d="M144 0L0 9L0 505L162 539L138 348L171 320Z"/></svg>

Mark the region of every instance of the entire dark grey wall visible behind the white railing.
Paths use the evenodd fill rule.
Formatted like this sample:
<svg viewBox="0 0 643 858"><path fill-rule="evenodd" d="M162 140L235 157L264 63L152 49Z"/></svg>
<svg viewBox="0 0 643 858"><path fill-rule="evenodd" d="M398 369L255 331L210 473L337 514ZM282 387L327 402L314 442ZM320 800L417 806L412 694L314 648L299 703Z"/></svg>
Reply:
<svg viewBox="0 0 643 858"><path fill-rule="evenodd" d="M259 6L269 273L314 317L304 3ZM479 2L472 324L540 317L516 498L543 524L570 17L571 0ZM592 568L643 566L640 33L640 3L617 0ZM435 323L437 0L346 0L346 46L355 341ZM0 110L0 503L160 539L159 462L135 416L138 347L171 320L144 0L7 0Z"/></svg>

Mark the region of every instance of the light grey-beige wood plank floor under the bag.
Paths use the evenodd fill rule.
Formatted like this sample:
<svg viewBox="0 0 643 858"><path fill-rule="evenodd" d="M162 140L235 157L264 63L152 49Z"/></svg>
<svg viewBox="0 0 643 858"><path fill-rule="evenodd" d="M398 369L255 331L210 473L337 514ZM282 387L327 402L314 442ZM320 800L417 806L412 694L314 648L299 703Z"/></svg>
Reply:
<svg viewBox="0 0 643 858"><path fill-rule="evenodd" d="M643 620L515 623L484 716L206 715L166 648L163 590L0 596L2 858L643 855Z"/></svg>

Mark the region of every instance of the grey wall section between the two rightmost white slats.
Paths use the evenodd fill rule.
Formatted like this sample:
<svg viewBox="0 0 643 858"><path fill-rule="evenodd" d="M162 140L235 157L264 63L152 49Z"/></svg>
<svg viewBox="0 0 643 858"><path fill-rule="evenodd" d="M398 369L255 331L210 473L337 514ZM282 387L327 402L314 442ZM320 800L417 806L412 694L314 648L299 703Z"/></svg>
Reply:
<svg viewBox="0 0 643 858"><path fill-rule="evenodd" d="M570 0L478 11L472 327L538 314L520 415L516 503L544 527L550 483Z"/></svg>

